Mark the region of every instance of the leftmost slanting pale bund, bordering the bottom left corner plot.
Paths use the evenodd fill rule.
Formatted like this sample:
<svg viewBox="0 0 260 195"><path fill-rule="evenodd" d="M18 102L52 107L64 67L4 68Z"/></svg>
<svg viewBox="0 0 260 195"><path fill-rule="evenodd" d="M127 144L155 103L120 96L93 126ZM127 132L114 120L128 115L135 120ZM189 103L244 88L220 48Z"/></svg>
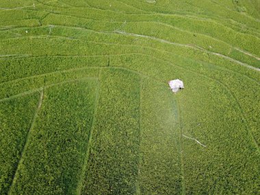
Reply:
<svg viewBox="0 0 260 195"><path fill-rule="evenodd" d="M26 148L28 147L28 143L29 143L29 138L30 138L30 135L31 135L31 131L33 131L34 129L34 124L36 122L36 118L38 116L38 112L40 111L40 108L42 106L42 101L43 101L43 98L44 98L44 88L41 88L41 92L40 92L40 98L39 98L39 101L38 101L38 106L36 107L36 111L35 111L35 114L34 114L34 118L31 120L31 127L29 128L29 131L27 133L27 138L26 138L26 141L25 141L25 146L23 146L23 151L21 153L21 158L20 160L18 161L18 165L16 167L16 170L15 170L15 173L14 173L14 177L12 179L12 184L10 185L10 188L8 190L8 195L11 194L12 192L12 188L14 187L14 184L16 183L16 179L17 179L17 174L18 174L18 170L19 170L19 167L21 166L21 163L23 162L23 158L24 158L24 155L25 155L25 150Z"/></svg>

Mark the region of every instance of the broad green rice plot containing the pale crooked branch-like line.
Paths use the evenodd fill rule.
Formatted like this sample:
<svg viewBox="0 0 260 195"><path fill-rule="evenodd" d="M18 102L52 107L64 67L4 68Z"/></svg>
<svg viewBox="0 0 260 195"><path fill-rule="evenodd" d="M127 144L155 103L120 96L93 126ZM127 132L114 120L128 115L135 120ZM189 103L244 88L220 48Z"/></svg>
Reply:
<svg viewBox="0 0 260 195"><path fill-rule="evenodd" d="M186 194L257 194L260 155L247 115L222 83L194 81L178 96Z"/></svg>

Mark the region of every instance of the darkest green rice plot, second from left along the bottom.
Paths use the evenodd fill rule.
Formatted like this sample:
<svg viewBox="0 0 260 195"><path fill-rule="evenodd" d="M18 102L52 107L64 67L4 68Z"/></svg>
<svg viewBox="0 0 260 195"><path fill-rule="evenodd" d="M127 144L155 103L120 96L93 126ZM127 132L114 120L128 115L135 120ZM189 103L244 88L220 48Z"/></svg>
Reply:
<svg viewBox="0 0 260 195"><path fill-rule="evenodd" d="M11 194L75 194L88 151L99 83L75 81L44 90Z"/></svg>

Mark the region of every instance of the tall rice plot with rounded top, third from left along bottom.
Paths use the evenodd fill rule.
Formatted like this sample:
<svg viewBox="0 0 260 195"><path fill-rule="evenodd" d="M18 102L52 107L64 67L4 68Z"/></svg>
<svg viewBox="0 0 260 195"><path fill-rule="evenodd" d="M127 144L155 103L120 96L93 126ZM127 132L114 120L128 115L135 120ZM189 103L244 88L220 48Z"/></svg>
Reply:
<svg viewBox="0 0 260 195"><path fill-rule="evenodd" d="M111 68L102 70L100 79L82 194L134 194L140 153L140 77Z"/></svg>

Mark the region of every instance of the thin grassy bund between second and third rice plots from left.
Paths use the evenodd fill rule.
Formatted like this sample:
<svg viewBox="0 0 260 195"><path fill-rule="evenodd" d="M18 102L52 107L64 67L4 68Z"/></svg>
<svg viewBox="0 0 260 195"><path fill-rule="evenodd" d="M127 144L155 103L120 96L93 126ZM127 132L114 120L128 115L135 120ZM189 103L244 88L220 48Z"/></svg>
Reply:
<svg viewBox="0 0 260 195"><path fill-rule="evenodd" d="M83 161L83 166L82 166L82 170L81 170L81 176L79 178L79 181L77 183L77 191L76 194L80 195L82 194L82 191L84 190L83 187L84 186L84 179L86 179L86 171L88 170L88 158L90 157L90 147L92 146L92 135L93 135L93 131L94 131L94 125L96 123L96 112L98 109L98 105L99 105L99 93L100 93L100 81L98 82L97 85L97 89L96 89L96 94L95 94L95 101L94 101L94 113L93 113L93 118L92 118L92 124L90 127L90 132L88 135L88 146L87 146L87 152Z"/></svg>

